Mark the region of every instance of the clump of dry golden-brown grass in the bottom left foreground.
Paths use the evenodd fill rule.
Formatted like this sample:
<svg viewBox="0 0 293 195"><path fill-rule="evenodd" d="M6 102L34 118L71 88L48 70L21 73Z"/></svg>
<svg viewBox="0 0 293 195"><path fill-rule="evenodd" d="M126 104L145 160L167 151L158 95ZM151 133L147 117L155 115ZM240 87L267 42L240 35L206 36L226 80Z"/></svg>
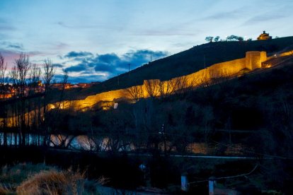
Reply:
<svg viewBox="0 0 293 195"><path fill-rule="evenodd" d="M82 194L84 175L68 171L42 171L17 187L17 194Z"/></svg>

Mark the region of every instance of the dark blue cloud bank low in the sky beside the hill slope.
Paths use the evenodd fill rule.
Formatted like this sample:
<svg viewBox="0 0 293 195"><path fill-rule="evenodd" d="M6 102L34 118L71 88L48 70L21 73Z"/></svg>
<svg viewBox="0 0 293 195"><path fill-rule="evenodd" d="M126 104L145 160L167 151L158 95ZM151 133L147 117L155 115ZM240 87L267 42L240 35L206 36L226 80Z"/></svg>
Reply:
<svg viewBox="0 0 293 195"><path fill-rule="evenodd" d="M93 78L96 76L96 80L98 81L104 81L117 74L125 73L128 71L128 64L130 64L131 69L136 69L151 61L151 58L152 60L156 60L168 55L168 52L151 51L148 49L131 50L120 56L114 53L97 54L95 56L90 52L76 53L77 52L69 52L69 54L67 54L68 56L72 56L72 59L67 61L67 63L77 63L66 69L69 71L69 75L70 73L74 73L76 76L79 75L81 77L85 74L93 76ZM81 58L83 54L85 57Z"/></svg>

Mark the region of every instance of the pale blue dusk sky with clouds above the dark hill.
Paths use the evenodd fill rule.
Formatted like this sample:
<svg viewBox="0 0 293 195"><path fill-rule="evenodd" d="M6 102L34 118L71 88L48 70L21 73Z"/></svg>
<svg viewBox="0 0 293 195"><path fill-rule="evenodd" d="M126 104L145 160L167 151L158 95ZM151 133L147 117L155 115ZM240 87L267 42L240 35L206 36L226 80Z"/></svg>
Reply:
<svg viewBox="0 0 293 195"><path fill-rule="evenodd" d="M1 0L0 52L13 66L50 58L69 81L104 81L205 43L208 35L245 40L263 30L293 35L292 0Z"/></svg>

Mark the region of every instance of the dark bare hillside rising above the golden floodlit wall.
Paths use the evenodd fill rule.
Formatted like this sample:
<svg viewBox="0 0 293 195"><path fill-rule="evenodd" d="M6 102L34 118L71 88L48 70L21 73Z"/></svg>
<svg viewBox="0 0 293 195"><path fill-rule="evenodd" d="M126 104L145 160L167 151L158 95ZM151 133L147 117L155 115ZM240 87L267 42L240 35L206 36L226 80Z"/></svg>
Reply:
<svg viewBox="0 0 293 195"><path fill-rule="evenodd" d="M245 53L248 51L265 51L270 55L292 48L292 45L293 37L263 41L207 43L144 64L129 73L115 76L99 85L93 85L91 88L70 90L67 95L74 99L82 99L103 91L141 85L146 79L159 78L161 81L165 81L204 69L205 66L245 57Z"/></svg>

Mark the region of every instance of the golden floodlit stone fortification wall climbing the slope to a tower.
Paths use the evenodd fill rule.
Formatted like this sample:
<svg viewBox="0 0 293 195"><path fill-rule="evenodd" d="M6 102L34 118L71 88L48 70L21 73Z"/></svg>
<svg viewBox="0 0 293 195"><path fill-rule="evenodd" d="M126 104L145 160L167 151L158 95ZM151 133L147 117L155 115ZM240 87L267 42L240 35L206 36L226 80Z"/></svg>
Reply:
<svg viewBox="0 0 293 195"><path fill-rule="evenodd" d="M267 59L266 52L246 52L246 57L214 64L187 76L172 78L169 81L159 81L157 79L144 81L143 85L134 86L132 88L141 88L142 95L140 98L149 98L150 96L159 96L162 94L173 93L181 88L197 87L206 85L212 78L229 77L236 75L243 69L254 70L261 68L261 63ZM151 93L153 94L150 94ZM112 90L97 95L90 95L84 100L75 100L71 105L76 110L85 107L92 107L100 101L113 101L120 98L131 98L130 88Z"/></svg>

